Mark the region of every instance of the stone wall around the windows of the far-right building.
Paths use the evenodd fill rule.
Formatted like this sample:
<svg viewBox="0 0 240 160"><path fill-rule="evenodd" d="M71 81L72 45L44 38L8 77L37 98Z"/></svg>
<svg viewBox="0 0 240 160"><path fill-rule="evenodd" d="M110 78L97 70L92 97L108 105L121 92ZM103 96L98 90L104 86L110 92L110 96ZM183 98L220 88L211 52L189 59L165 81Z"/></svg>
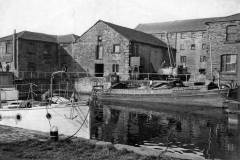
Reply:
<svg viewBox="0 0 240 160"><path fill-rule="evenodd" d="M221 55L223 54L237 54L237 72L236 73L223 73L220 72L222 81L234 80L240 82L240 43L239 42L228 42L226 41L226 30L229 25L238 26L240 30L240 21L232 22L216 22L209 23L209 36L211 43L211 54L212 54L212 69L213 74L215 71L221 71ZM208 54L210 58L210 54ZM208 63L208 76L211 77L211 63Z"/></svg>

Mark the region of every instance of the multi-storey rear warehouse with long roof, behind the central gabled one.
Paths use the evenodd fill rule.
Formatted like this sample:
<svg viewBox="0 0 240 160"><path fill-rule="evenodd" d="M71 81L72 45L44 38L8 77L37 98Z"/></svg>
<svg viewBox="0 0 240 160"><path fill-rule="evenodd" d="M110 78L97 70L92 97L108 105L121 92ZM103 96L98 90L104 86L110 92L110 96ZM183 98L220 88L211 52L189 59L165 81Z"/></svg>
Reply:
<svg viewBox="0 0 240 160"><path fill-rule="evenodd" d="M176 49L176 64L197 75L207 69L208 34L206 22L215 18L139 24L136 29L169 43Z"/></svg>

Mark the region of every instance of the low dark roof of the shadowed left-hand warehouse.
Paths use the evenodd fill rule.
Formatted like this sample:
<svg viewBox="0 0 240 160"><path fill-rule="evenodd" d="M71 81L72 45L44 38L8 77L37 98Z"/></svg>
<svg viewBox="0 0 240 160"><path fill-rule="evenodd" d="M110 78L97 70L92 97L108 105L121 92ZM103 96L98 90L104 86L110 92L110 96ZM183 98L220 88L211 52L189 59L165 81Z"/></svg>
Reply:
<svg viewBox="0 0 240 160"><path fill-rule="evenodd" d="M13 35L9 35L6 37L0 38L0 41L12 40ZM77 35L68 34L68 35L49 35L44 33L30 32L30 31L22 31L16 33L17 38L22 38L26 40L35 40L35 41L43 41L43 42L51 42L51 43L71 43L75 42L78 38Z"/></svg>

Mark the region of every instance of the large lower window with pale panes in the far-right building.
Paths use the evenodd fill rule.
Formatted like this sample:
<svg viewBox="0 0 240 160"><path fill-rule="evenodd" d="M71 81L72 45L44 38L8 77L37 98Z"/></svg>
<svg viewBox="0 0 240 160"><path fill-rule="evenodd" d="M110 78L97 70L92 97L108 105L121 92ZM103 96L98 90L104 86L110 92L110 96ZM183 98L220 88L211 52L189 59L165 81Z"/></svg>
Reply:
<svg viewBox="0 0 240 160"><path fill-rule="evenodd" d="M221 56L221 72L235 73L237 71L237 55L225 54Z"/></svg>

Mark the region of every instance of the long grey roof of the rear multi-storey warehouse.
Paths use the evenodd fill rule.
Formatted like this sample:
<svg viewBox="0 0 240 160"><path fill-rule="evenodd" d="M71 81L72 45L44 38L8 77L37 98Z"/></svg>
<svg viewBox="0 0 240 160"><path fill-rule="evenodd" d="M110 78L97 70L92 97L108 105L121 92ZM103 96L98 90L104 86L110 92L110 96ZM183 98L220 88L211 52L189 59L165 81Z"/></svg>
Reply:
<svg viewBox="0 0 240 160"><path fill-rule="evenodd" d="M217 18L177 20L160 23L139 24L135 29L146 33L185 32L206 30L205 23Z"/></svg>

